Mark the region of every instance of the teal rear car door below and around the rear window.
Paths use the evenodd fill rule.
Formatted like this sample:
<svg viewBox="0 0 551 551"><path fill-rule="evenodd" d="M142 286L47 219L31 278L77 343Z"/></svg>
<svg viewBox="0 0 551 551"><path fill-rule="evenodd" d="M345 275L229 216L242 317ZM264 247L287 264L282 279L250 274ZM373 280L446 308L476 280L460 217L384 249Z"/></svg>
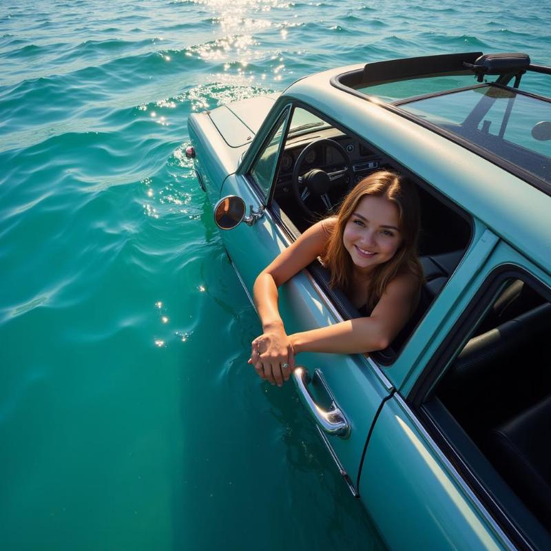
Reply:
<svg viewBox="0 0 551 551"><path fill-rule="evenodd" d="M428 399L424 377L440 355L457 357L468 338L457 330L461 316L475 306L488 310L480 290L488 284L492 271L520 262L518 253L500 243L491 231L484 231L473 241L423 322L433 328L433 335L427 340L428 326L420 327L402 353L403 358L411 359L410 374L403 377L377 418L360 479L362 501L393 549L515 548L509 532L495 520L466 476L477 461L480 469L486 470L484 458L475 461L466 454L450 455L441 445L441 429L428 430L421 410ZM420 338L425 346L417 342ZM446 366L442 365L441 371ZM449 392L457 391L454 387ZM449 430L461 445L467 441L455 422L449 422Z"/></svg>

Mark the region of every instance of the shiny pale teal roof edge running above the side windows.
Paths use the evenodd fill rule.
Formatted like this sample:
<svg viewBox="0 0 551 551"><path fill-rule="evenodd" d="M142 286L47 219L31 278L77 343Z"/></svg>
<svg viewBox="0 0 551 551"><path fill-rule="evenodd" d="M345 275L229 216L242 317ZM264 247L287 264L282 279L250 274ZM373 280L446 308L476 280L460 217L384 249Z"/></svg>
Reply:
<svg viewBox="0 0 551 551"><path fill-rule="evenodd" d="M279 102L292 97L365 138L549 272L551 197L487 158L386 109L382 101L366 101L331 84L340 74L363 67L348 65L307 76L290 85Z"/></svg>

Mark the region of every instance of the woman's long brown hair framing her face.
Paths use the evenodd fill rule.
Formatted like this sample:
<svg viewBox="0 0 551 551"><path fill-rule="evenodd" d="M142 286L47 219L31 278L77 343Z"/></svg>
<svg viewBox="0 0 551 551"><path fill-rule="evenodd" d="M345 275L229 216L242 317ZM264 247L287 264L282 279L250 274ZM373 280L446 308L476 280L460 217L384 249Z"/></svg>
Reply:
<svg viewBox="0 0 551 551"><path fill-rule="evenodd" d="M353 262L350 253L344 248L344 227L360 200L366 196L384 197L397 207L402 236L402 243L394 256L375 267L368 280L367 306L373 309L382 297L386 285L399 273L415 275L419 280L419 289L421 287L423 269L417 254L419 198L413 183L390 170L381 170L366 176L346 196L337 214L337 221L329 236L322 262L331 271L331 287L342 289L348 295L352 291Z"/></svg>

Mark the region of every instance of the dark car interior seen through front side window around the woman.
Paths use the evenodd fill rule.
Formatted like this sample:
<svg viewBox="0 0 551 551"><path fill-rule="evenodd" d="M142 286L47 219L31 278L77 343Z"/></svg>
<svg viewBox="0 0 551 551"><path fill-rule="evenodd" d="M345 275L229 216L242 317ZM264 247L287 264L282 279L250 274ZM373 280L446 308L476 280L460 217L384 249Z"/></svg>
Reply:
<svg viewBox="0 0 551 551"><path fill-rule="evenodd" d="M303 112L301 121L304 118ZM291 123L273 194L273 211L295 238L316 221L333 214L347 191L371 171L384 168L402 171L371 145L327 125L313 114L310 121L298 126L298 132L293 132ZM410 176L410 180L417 184L421 206L419 255L425 282L417 309L404 329L387 349L371 353L381 364L393 362L459 264L472 236L468 216L418 178ZM446 227L446 232L441 231L442 227ZM329 287L330 274L321 262L316 260L309 270L344 319L360 317L342 291Z"/></svg>

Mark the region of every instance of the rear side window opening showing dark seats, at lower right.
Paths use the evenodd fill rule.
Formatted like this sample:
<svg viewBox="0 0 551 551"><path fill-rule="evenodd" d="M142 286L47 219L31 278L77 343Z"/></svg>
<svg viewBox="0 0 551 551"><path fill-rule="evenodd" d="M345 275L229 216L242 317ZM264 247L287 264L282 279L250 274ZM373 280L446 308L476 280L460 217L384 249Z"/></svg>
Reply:
<svg viewBox="0 0 551 551"><path fill-rule="evenodd" d="M490 289L422 410L517 528L550 535L550 294L525 274Z"/></svg>

